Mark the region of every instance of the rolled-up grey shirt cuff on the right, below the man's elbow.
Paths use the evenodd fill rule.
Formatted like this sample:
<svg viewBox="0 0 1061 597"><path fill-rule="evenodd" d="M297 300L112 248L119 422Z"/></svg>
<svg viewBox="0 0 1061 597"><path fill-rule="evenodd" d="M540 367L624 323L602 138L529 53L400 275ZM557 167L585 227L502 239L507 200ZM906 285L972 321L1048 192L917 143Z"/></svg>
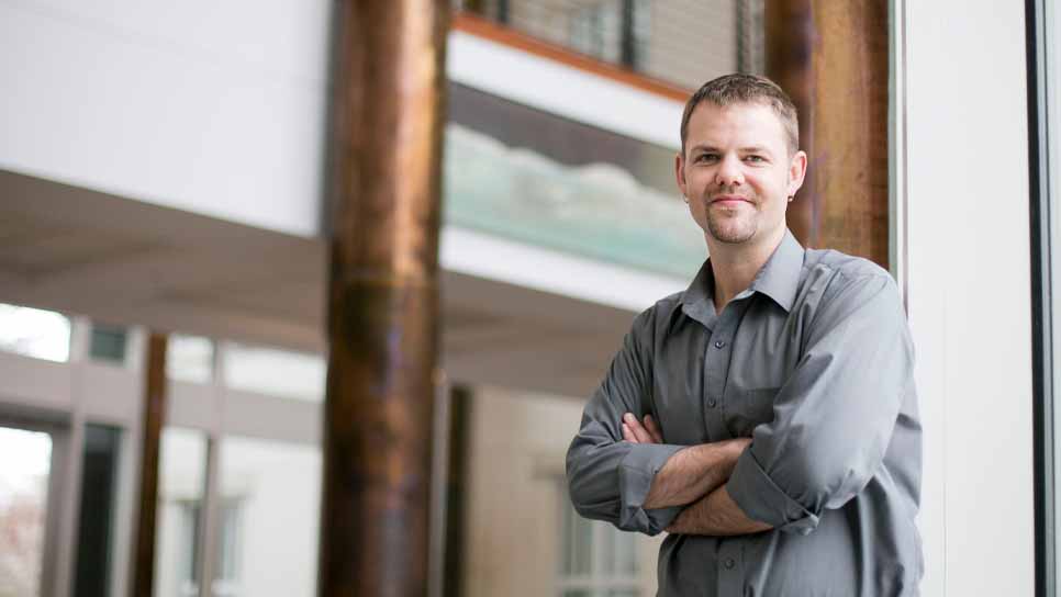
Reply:
<svg viewBox="0 0 1061 597"><path fill-rule="evenodd" d="M726 483L726 492L748 518L775 529L809 534L818 526L817 515L778 487L750 449L737 459L737 465Z"/></svg>

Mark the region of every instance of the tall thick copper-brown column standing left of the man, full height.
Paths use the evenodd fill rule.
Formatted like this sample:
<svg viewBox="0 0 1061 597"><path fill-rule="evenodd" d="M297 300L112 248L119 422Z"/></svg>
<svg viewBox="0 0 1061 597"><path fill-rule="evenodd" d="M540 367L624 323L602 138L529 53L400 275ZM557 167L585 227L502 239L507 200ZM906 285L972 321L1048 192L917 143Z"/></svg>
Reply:
<svg viewBox="0 0 1061 597"><path fill-rule="evenodd" d="M448 10L336 3L322 597L427 593Z"/></svg>

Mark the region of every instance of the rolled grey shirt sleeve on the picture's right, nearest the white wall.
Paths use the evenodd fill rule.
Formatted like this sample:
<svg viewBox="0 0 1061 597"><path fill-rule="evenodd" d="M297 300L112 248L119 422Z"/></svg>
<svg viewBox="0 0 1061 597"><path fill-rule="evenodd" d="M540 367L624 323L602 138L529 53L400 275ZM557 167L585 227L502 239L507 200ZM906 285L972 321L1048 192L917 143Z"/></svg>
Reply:
<svg viewBox="0 0 1061 597"><path fill-rule="evenodd" d="M812 532L824 509L842 506L878 473L913 361L891 277L837 273L774 398L774 419L755 428L726 484L734 502L749 518Z"/></svg>

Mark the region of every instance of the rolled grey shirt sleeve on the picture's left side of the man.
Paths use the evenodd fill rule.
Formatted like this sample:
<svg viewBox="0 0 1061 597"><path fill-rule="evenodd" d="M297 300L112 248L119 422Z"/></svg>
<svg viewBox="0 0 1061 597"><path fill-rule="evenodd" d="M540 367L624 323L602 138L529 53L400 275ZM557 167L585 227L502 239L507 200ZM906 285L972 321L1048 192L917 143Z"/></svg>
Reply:
<svg viewBox="0 0 1061 597"><path fill-rule="evenodd" d="M645 341L651 334L649 318L650 312L646 312L635 319L587 404L581 428L568 449L567 478L580 515L623 530L657 534L681 507L648 509L645 497L667 459L684 447L630 443L623 441L622 431L624 413L638 418L651 413L651 356L646 349L650 342Z"/></svg>

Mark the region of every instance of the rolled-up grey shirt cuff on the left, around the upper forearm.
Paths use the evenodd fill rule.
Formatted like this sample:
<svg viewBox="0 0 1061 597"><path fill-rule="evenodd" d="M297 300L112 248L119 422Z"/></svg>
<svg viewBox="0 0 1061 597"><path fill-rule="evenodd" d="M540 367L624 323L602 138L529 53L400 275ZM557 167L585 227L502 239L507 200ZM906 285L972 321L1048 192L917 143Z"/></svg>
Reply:
<svg viewBox="0 0 1061 597"><path fill-rule="evenodd" d="M669 443L637 443L623 458L618 468L619 525L624 530L659 534L681 512L681 506L645 508L645 498L652 487L656 473L667 460L684 446Z"/></svg>

